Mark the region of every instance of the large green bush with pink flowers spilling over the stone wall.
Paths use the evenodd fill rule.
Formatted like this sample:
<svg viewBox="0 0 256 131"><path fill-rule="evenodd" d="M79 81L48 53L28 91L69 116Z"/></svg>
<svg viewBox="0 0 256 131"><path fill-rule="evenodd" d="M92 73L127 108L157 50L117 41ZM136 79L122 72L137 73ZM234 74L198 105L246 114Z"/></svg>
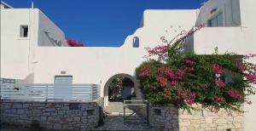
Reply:
<svg viewBox="0 0 256 131"><path fill-rule="evenodd" d="M211 111L242 111L242 104L252 103L247 96L255 93L256 65L247 60L256 54L218 54L218 48L209 55L183 53L186 39L202 27L183 31L170 42L161 37L164 45L147 48L148 58L157 59L137 67L140 88L155 105L172 103L196 110L193 105L201 104Z"/></svg>

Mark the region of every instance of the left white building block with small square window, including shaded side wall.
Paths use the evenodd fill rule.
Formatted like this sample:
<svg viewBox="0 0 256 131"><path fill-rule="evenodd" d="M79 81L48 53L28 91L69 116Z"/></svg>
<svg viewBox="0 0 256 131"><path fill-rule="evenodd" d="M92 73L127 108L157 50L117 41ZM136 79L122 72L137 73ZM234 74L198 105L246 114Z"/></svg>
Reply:
<svg viewBox="0 0 256 131"><path fill-rule="evenodd" d="M28 26L28 37L20 37L20 26ZM48 31L63 46L65 35L39 9L1 9L1 77L33 83L34 48L55 46Z"/></svg>

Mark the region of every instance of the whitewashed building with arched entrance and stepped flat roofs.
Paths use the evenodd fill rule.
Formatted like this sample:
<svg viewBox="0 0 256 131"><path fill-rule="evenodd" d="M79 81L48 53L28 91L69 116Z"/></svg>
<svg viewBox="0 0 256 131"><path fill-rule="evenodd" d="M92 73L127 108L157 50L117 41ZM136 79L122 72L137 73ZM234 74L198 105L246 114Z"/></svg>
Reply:
<svg viewBox="0 0 256 131"><path fill-rule="evenodd" d="M1 5L1 77L23 83L55 83L65 77L70 83L101 85L108 104L108 84L124 76L134 76L146 53L145 47L171 39L192 26L207 23L195 33L187 51L212 54L215 47L238 54L256 52L254 0L209 0L201 9L145 10L140 27L126 37L121 47L66 47L65 34L39 9L13 9ZM253 62L256 62L254 60ZM256 101L256 96L252 96ZM245 130L256 130L256 104L245 105Z"/></svg>

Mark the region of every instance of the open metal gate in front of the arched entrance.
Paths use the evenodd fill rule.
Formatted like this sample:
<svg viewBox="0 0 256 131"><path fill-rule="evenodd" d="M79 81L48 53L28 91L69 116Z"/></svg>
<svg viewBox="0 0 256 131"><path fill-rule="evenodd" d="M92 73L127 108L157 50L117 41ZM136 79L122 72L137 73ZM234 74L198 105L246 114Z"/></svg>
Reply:
<svg viewBox="0 0 256 131"><path fill-rule="evenodd" d="M129 116L125 116L125 109L129 108L133 112ZM149 106L147 100L124 100L124 122L132 122L132 116L139 116L146 120L149 125Z"/></svg>

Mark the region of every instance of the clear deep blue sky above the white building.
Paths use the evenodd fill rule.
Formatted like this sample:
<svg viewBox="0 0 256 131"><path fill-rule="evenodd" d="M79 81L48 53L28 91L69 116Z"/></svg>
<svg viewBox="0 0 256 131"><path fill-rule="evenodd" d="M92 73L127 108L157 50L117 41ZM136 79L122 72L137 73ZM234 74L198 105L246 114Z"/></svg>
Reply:
<svg viewBox="0 0 256 131"><path fill-rule="evenodd" d="M206 0L33 0L67 38L88 46L120 46L136 31L145 9L198 9ZM32 0L3 0L30 8Z"/></svg>

